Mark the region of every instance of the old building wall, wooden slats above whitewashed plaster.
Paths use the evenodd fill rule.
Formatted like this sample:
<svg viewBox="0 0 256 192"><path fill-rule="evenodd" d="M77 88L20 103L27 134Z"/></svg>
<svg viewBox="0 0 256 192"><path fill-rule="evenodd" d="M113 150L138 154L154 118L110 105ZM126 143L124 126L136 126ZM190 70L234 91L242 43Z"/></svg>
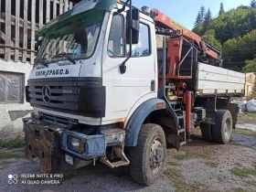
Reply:
<svg viewBox="0 0 256 192"><path fill-rule="evenodd" d="M29 63L34 63L37 56L37 31L49 20L79 2L80 0L0 0L0 72L24 73L23 86L26 86L32 69ZM24 103L3 102L1 94L6 95L7 91L3 89L5 82L1 78L3 76L0 76L0 139L15 138L23 134L22 118L29 116L33 108L25 101L25 95Z"/></svg>

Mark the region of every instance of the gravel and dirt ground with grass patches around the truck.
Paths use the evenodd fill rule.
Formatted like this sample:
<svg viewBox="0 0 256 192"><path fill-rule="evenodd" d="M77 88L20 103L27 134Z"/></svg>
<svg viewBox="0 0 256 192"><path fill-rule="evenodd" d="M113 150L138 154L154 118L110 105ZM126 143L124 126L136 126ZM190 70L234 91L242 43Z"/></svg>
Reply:
<svg viewBox="0 0 256 192"><path fill-rule="evenodd" d="M193 140L178 153L168 150L165 173L152 187L134 183L127 167L101 163L62 173L63 178L54 178L59 185L42 184L49 179L21 177L39 174L38 162L24 160L23 149L2 149L0 191L256 191L256 133L238 130L227 145ZM8 184L9 175L18 176L17 184Z"/></svg>

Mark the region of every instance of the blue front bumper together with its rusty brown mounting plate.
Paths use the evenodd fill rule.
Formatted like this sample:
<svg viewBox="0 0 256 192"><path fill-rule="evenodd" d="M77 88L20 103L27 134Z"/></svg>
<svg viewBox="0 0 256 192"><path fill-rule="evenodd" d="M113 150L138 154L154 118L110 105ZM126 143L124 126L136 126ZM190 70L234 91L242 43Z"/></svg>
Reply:
<svg viewBox="0 0 256 192"><path fill-rule="evenodd" d="M41 172L57 172L63 167L65 154L75 157L75 168L79 161L86 161L105 155L105 135L86 135L70 132L56 125L46 125L39 121L28 121L24 126L25 156L33 162L35 157L40 159ZM71 151L68 147L68 137L80 138L85 144L85 152L80 154ZM67 165L67 164L66 164Z"/></svg>

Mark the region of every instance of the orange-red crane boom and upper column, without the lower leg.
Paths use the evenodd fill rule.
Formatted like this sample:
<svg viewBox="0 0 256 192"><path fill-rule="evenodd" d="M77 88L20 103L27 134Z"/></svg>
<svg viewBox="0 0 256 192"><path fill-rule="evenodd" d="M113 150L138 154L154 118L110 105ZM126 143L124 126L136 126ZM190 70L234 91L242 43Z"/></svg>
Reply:
<svg viewBox="0 0 256 192"><path fill-rule="evenodd" d="M165 16L157 9L152 10L152 16L155 19L155 27L158 33L166 32L176 34L176 37L171 37L168 45L167 57L170 62L169 71L166 75L166 80L170 79L192 79L192 74L182 76L176 73L176 66L182 60L182 48L184 40L193 42L194 47L199 51L201 58L214 59L217 63L221 64L221 51L218 48L211 46L206 40L199 37L196 33L178 24L172 18ZM165 33L164 32L164 33ZM156 32L157 33L157 32Z"/></svg>

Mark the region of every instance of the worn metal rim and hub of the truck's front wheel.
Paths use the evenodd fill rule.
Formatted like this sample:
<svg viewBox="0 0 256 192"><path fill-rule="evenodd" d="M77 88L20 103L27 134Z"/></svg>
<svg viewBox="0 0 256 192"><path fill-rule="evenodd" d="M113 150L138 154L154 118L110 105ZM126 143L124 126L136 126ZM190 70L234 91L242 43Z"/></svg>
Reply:
<svg viewBox="0 0 256 192"><path fill-rule="evenodd" d="M155 139L150 148L149 162L150 169L153 173L156 173L164 161L164 146L163 144Z"/></svg>

